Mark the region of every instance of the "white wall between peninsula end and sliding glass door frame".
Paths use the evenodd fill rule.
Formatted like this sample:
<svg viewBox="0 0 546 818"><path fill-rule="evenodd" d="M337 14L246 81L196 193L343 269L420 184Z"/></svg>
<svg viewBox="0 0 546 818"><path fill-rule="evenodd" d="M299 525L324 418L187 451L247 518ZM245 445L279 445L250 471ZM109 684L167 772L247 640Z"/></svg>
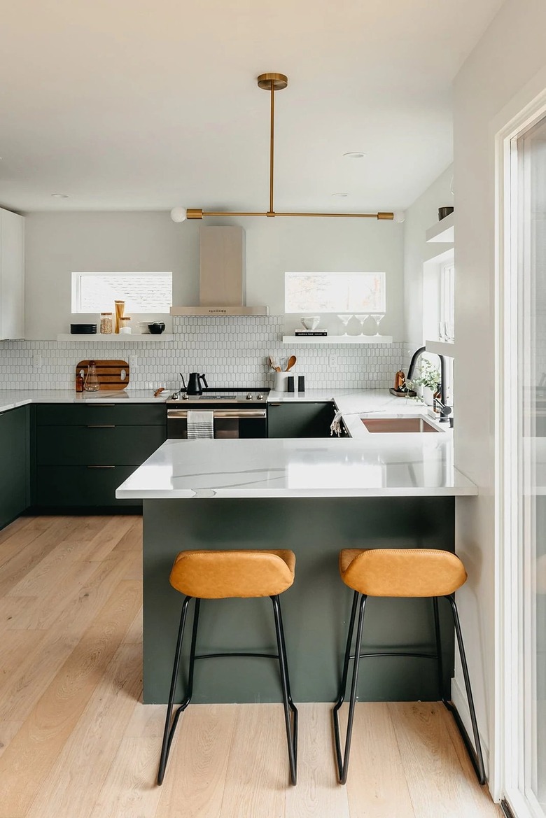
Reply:
<svg viewBox="0 0 546 818"><path fill-rule="evenodd" d="M494 133L539 92L544 0L507 0L454 83L455 460L480 494L457 510L458 592L482 734L494 746ZM530 83L530 84L528 84ZM498 740L498 739L497 739ZM495 771L493 771L494 773ZM494 779L495 794L498 781Z"/></svg>

